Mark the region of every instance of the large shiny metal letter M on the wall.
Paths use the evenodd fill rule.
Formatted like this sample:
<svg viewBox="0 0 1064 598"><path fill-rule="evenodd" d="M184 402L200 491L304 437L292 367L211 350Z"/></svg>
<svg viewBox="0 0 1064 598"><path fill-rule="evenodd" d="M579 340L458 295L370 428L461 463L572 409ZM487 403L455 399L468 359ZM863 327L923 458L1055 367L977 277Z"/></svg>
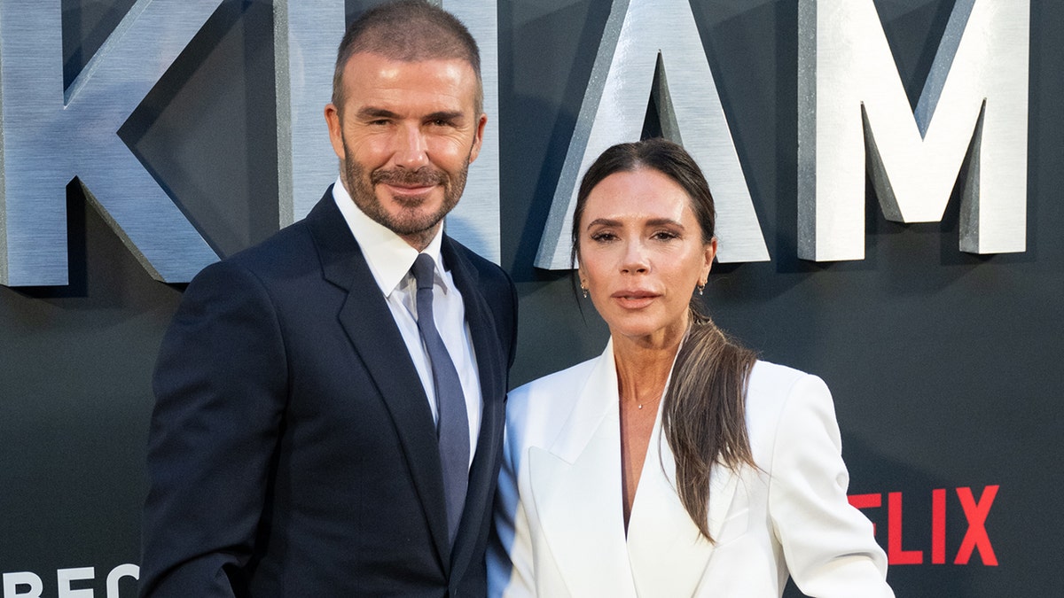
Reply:
<svg viewBox="0 0 1064 598"><path fill-rule="evenodd" d="M798 255L864 259L866 152L884 216L927 222L969 145L961 250L1024 251L1029 0L957 0L915 115L872 0L800 0L798 20Z"/></svg>

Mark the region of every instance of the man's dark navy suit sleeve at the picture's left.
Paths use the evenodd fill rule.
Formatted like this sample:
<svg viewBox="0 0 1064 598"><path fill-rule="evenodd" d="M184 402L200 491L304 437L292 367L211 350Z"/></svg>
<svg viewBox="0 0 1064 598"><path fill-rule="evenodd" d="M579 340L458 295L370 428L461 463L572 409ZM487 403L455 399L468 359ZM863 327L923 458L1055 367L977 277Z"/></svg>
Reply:
<svg viewBox="0 0 1064 598"><path fill-rule="evenodd" d="M239 596L286 397L263 284L232 263L188 286L160 350L142 596Z"/></svg>

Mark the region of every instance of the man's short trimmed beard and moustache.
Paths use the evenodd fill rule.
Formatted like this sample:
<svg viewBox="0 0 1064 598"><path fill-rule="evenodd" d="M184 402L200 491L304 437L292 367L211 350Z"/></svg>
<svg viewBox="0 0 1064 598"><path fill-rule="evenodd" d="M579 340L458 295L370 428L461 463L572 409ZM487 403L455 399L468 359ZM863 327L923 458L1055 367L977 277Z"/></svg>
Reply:
<svg viewBox="0 0 1064 598"><path fill-rule="evenodd" d="M434 229L444 216L447 215L459 202L462 192L465 189L466 176L469 171L469 159L465 160L462 169L454 173L453 178L447 172L432 166L422 166L417 170L406 170L396 168L393 170L378 169L367 172L366 169L354 160L353 153L344 144L345 159L343 163L345 182L348 193L354 204L358 205L373 221L387 228L400 236L415 236L428 232L435 232ZM393 202L401 210L389 213L377 197L376 188L379 184L400 184L409 186L434 186L442 185L444 189L444 201L439 209L433 213L425 214L419 209L426 201L423 197L396 197ZM428 239L426 239L428 242Z"/></svg>

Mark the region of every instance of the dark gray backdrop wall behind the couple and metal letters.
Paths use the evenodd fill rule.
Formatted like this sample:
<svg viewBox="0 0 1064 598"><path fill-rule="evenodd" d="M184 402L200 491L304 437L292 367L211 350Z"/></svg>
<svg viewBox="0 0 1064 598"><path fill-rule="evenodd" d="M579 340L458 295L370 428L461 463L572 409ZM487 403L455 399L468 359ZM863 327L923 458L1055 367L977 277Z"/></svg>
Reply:
<svg viewBox="0 0 1064 598"><path fill-rule="evenodd" d="M371 3L348 0L349 16ZM68 82L132 4L63 0ZM953 0L876 5L915 103ZM957 197L942 222L898 225L869 190L866 258L833 264L796 252L797 2L692 6L772 256L717 266L711 312L765 359L831 386L850 492L878 495L865 510L877 538L900 541L888 576L898 596L1059 595L1064 3L1031 0L1027 251L961 253ZM502 265L521 300L515 385L605 340L568 276L532 261L609 10L498 2ZM278 218L271 32L270 2L225 1L121 131L223 254ZM0 574L33 574L55 596L57 571L93 567L72 587L106 596L107 575L138 561L150 373L182 288L138 266L77 181L67 202L70 284L0 286ZM969 533L977 550L958 564ZM913 551L922 563L903 564ZM113 595L134 587L124 578Z"/></svg>

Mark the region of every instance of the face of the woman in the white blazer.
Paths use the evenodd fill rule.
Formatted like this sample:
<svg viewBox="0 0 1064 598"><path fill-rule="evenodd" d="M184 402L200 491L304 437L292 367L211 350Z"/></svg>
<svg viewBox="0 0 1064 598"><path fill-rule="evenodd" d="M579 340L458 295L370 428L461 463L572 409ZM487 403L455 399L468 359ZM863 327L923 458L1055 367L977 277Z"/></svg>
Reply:
<svg viewBox="0 0 1064 598"><path fill-rule="evenodd" d="M716 240L702 243L679 184L648 168L610 175L587 196L579 237L581 285L615 338L682 337Z"/></svg>

